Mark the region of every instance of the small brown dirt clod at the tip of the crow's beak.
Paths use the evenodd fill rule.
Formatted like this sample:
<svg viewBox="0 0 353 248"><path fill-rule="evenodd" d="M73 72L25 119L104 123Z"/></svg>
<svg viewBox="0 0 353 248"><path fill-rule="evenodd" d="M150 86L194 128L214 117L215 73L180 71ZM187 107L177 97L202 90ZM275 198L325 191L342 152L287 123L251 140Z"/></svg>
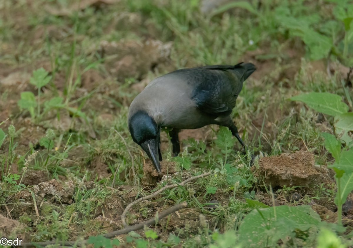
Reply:
<svg viewBox="0 0 353 248"><path fill-rule="evenodd" d="M172 175L176 172L176 163L169 162L166 160L160 161L161 174L157 172L152 163L146 163L143 165L143 178L141 182L145 186L154 186L164 175Z"/></svg>

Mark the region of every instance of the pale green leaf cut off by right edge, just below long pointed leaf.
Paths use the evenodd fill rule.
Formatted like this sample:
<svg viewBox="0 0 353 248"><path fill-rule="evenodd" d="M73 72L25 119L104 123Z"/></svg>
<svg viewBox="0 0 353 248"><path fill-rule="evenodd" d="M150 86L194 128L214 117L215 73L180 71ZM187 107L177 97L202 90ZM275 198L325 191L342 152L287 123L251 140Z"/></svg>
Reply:
<svg viewBox="0 0 353 248"><path fill-rule="evenodd" d="M336 135L343 132L341 140L346 144L352 142L352 138L348 135L348 131L353 131L353 113L343 113L335 116L334 127Z"/></svg>

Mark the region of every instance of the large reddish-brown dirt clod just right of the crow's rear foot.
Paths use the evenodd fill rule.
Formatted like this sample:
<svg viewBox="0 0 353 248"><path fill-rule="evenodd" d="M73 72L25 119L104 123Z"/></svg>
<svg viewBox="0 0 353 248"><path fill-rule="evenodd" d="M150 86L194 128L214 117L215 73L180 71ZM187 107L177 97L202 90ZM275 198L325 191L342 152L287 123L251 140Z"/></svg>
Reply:
<svg viewBox="0 0 353 248"><path fill-rule="evenodd" d="M272 187L284 185L309 185L319 177L314 167L314 155L310 152L283 153L279 156L259 159L259 168L252 167L255 175L264 178Z"/></svg>

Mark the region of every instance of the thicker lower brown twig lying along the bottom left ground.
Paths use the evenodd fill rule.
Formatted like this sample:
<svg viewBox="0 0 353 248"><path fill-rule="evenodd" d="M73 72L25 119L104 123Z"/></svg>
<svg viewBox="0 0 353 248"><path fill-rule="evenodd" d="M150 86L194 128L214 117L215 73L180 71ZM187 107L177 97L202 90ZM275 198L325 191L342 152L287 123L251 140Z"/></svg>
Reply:
<svg viewBox="0 0 353 248"><path fill-rule="evenodd" d="M179 203L178 205L175 205L173 207L170 207L164 211L162 211L161 213L156 214L155 217L150 218L144 222L141 222L139 224L133 225L133 226L128 226L126 228L123 228L121 230L117 230L117 231L113 231L113 232L108 232L107 234L103 234L104 237L106 238L112 238L115 237L117 235L121 235L121 234L127 234L131 231L137 231L139 229L142 229L144 226L150 226L154 223L156 223L156 221L159 221L161 219L163 219L164 217L168 216L169 214L172 214L178 210L180 210L181 208L186 207L186 201ZM87 240L83 240L83 241L65 241L65 242L58 242L58 241L46 241L46 242L28 242L28 243L22 243L21 246L22 247L34 247L34 246L49 246L52 244L61 244L62 246L74 246L75 244L77 246L82 246L83 244L85 244L87 242Z"/></svg>

